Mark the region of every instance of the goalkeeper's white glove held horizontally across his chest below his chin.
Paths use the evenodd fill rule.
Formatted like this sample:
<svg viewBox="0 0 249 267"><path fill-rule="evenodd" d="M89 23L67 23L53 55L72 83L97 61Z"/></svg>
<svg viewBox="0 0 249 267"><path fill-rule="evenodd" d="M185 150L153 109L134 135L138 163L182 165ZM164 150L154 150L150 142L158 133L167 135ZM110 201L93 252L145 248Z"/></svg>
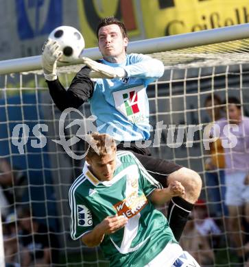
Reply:
<svg viewBox="0 0 249 267"><path fill-rule="evenodd" d="M124 68L108 66L102 63L95 62L91 58L82 57L83 63L91 68L90 77L95 79L115 79L124 78L127 73Z"/></svg>

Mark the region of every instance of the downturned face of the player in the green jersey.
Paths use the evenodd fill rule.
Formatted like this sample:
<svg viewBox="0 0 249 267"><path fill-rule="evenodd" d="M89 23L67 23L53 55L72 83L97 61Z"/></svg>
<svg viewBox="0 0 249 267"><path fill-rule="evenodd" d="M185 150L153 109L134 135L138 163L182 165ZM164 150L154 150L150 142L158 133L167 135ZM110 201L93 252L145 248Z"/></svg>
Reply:
<svg viewBox="0 0 249 267"><path fill-rule="evenodd" d="M116 168L116 153L106 154L104 157L94 155L91 158L86 157L90 164L90 170L99 181L110 181Z"/></svg>

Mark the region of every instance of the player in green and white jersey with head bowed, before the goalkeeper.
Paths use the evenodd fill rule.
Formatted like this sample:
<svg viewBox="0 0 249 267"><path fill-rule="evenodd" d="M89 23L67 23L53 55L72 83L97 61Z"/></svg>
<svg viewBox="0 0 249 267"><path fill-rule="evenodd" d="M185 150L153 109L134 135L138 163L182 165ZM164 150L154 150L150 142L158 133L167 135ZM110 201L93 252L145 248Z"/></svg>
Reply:
<svg viewBox="0 0 249 267"><path fill-rule="evenodd" d="M199 266L174 238L153 204L185 193L178 181L162 186L115 140L93 133L82 175L69 190L71 238L99 246L110 266Z"/></svg>

